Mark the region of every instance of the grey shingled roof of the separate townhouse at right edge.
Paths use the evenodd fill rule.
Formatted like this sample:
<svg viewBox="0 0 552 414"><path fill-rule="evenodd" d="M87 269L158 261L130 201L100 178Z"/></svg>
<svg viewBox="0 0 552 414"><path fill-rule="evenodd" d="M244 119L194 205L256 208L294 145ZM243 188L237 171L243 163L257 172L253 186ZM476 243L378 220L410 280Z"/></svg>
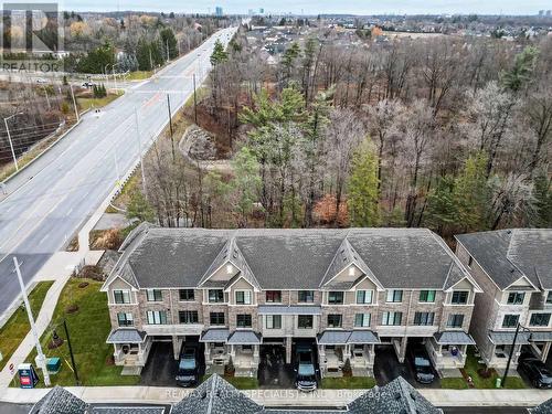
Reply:
<svg viewBox="0 0 552 414"><path fill-rule="evenodd" d="M552 289L551 229L498 230L455 237L500 289L522 277L535 288Z"/></svg>

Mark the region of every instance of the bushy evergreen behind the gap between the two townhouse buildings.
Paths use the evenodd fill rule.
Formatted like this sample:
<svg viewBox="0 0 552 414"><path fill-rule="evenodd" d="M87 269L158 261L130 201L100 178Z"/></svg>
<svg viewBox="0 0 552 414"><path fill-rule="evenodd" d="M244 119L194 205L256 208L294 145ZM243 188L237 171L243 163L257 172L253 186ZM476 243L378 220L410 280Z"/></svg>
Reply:
<svg viewBox="0 0 552 414"><path fill-rule="evenodd" d="M487 229L490 191L487 183L487 155L482 151L466 160L454 189L454 205L463 231Z"/></svg>

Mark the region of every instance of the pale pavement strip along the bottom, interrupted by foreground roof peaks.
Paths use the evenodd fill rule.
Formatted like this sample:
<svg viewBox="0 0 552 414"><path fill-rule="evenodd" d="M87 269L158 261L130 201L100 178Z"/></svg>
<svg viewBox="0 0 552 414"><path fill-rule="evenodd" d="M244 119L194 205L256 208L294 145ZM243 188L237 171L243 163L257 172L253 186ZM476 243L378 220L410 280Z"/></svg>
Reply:
<svg viewBox="0 0 552 414"><path fill-rule="evenodd" d="M68 386L68 391L88 403L176 403L193 390L156 386ZM0 401L35 403L49 390L0 390ZM297 390L251 390L244 393L269 407L343 407L367 390L318 390L305 394ZM436 406L534 406L550 399L543 390L417 390Z"/></svg>

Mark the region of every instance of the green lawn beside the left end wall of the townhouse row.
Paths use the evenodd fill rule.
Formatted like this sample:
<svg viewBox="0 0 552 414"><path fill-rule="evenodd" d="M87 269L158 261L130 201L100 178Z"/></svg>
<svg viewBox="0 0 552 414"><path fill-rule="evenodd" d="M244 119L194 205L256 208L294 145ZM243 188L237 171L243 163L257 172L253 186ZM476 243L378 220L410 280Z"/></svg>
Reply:
<svg viewBox="0 0 552 414"><path fill-rule="evenodd" d="M82 282L87 282L89 285L79 288ZM64 317L66 318L82 385L135 385L139 382L139 376L121 376L121 367L107 363L113 354L113 346L105 343L110 331L110 321L107 297L105 293L99 291L100 287L100 282L71 278L62 290L52 321L56 325L57 335L65 338L62 321ZM74 304L78 306L78 310L71 315L66 314L65 309ZM46 331L41 339L46 358L62 359L62 369L57 374L51 375L52 384L75 385L67 342L50 350L47 343L51 338L52 331ZM34 361L35 354L36 351L33 350L26 361ZM42 376L40 370L39 376ZM39 386L44 386L42 380Z"/></svg>

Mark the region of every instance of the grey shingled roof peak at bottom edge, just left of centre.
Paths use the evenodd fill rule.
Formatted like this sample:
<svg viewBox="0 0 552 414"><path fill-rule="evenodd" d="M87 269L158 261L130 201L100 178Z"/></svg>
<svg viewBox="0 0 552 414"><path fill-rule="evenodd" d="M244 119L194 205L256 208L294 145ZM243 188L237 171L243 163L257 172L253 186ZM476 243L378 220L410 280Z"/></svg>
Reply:
<svg viewBox="0 0 552 414"><path fill-rule="evenodd" d="M217 374L172 406L171 414L255 414L263 410Z"/></svg>

